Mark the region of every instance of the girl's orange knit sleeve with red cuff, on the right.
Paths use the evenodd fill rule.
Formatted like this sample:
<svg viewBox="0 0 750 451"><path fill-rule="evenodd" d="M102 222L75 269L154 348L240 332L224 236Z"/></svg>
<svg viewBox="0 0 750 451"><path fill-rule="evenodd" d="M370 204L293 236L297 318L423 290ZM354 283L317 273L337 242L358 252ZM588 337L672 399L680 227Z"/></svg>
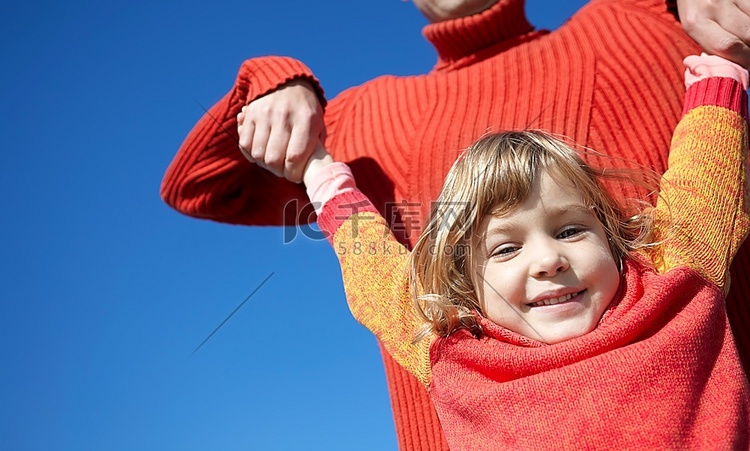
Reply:
<svg viewBox="0 0 750 451"><path fill-rule="evenodd" d="M677 126L656 206L657 269L690 266L724 290L750 226L747 94L728 78L693 85Z"/></svg>

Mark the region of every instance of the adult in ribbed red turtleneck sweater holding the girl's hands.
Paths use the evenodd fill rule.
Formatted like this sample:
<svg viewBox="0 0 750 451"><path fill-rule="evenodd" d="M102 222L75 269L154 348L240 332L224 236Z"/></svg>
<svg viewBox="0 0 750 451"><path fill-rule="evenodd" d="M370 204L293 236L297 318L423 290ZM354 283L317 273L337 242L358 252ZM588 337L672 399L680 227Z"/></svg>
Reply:
<svg viewBox="0 0 750 451"><path fill-rule="evenodd" d="M678 8L708 51L750 65L750 0L592 0L551 33L528 23L523 0L414 3L432 22L423 31L438 53L430 73L379 77L326 105L299 61L247 60L232 90L185 139L164 177L164 200L221 222L309 222L304 187L294 182L324 139L399 239L413 245L459 150L487 131L543 128L606 149L622 164L663 172L682 105L681 60L698 51ZM593 153L587 160L616 163ZM738 293L750 293L740 276L750 269L747 248L732 274L735 326L750 324L738 303ZM736 329L739 346L750 349L747 333ZM400 448L446 449L420 384L387 354L384 365Z"/></svg>

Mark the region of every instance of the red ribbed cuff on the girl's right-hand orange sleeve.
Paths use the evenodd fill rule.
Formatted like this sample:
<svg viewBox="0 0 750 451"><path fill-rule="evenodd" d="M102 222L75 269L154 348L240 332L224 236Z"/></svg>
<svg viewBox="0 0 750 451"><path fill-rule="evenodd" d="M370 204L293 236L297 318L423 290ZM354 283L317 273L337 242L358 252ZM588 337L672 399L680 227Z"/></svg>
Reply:
<svg viewBox="0 0 750 451"><path fill-rule="evenodd" d="M694 83L685 93L682 114L699 106L720 106L747 118L747 91L732 78L712 77Z"/></svg>

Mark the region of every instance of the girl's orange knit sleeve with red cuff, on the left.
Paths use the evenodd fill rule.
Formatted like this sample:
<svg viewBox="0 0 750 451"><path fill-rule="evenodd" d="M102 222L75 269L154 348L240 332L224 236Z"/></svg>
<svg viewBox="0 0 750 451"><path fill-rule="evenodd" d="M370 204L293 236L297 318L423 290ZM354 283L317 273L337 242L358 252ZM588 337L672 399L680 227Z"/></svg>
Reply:
<svg viewBox="0 0 750 451"><path fill-rule="evenodd" d="M431 340L412 344L421 325L409 283L409 251L367 198L347 192L328 201L318 224L341 264L352 315L388 353L425 386L430 383Z"/></svg>

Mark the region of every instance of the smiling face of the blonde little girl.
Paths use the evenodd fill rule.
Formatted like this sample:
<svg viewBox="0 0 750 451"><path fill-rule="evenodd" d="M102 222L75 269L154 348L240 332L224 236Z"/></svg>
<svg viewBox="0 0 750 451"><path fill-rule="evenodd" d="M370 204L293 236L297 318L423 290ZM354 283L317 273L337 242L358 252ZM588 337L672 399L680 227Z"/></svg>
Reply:
<svg viewBox="0 0 750 451"><path fill-rule="evenodd" d="M479 230L477 295L495 323L545 343L592 331L620 275L604 228L570 184L547 174Z"/></svg>

